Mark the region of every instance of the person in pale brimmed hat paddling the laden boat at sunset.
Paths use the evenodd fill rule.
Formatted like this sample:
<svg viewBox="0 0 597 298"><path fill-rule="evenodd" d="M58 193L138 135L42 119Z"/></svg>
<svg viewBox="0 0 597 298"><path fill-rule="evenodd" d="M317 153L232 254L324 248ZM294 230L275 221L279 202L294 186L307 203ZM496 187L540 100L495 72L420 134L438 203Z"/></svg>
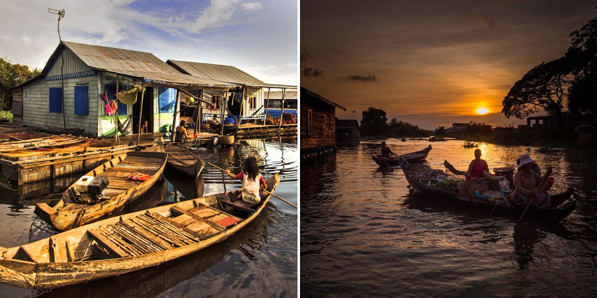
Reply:
<svg viewBox="0 0 597 298"><path fill-rule="evenodd" d="M535 161L528 154L522 154L518 163L518 172L514 175L514 192L511 195L512 204L515 207L527 207L529 200L533 200L536 208L551 207L551 200L547 190L553 185L553 177L540 187L541 176L533 170ZM549 171L549 169L548 169Z"/></svg>

